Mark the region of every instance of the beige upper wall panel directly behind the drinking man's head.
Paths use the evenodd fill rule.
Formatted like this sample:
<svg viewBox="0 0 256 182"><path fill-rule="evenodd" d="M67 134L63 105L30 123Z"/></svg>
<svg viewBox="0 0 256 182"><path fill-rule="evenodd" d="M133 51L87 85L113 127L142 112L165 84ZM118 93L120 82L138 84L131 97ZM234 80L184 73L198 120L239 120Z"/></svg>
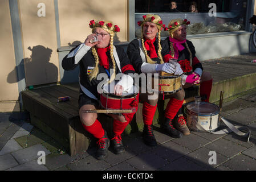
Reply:
<svg viewBox="0 0 256 182"><path fill-rule="evenodd" d="M59 0L60 45L84 42L91 34L90 20L111 20L120 27L115 42L128 40L128 0Z"/></svg>

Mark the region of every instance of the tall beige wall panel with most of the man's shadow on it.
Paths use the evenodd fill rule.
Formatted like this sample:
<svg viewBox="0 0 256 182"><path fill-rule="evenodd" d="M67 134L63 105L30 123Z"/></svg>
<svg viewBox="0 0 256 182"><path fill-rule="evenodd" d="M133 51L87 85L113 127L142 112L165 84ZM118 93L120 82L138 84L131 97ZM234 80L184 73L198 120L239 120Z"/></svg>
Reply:
<svg viewBox="0 0 256 182"><path fill-rule="evenodd" d="M26 86L59 81L54 1L19 0ZM38 16L38 4L46 6L46 16Z"/></svg>

